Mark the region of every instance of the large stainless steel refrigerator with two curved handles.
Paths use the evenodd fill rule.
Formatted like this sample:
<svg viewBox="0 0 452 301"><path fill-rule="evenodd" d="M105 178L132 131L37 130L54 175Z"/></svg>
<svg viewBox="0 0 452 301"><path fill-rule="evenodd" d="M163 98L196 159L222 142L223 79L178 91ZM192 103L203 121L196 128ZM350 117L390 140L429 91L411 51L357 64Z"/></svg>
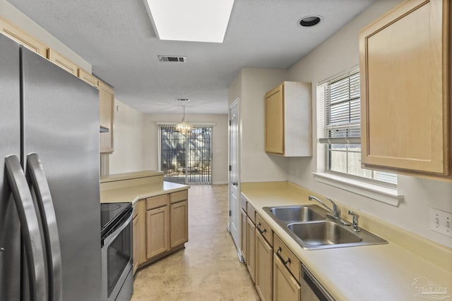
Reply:
<svg viewBox="0 0 452 301"><path fill-rule="evenodd" d="M100 300L95 88L0 34L0 300Z"/></svg>

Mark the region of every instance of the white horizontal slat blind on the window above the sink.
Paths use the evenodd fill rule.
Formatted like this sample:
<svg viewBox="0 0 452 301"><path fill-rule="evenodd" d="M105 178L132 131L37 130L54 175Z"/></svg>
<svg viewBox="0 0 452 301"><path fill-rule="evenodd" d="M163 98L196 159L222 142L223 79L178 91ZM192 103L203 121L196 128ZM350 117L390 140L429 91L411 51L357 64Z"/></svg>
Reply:
<svg viewBox="0 0 452 301"><path fill-rule="evenodd" d="M361 143L361 98L359 70L346 73L319 87L324 99L323 133L319 142L330 144Z"/></svg>

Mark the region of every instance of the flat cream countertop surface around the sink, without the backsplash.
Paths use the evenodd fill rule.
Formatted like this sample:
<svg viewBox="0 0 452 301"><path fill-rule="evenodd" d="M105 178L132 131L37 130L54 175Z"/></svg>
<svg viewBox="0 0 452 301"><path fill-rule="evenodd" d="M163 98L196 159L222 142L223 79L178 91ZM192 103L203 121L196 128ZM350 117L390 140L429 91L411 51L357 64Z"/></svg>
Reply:
<svg viewBox="0 0 452 301"><path fill-rule="evenodd" d="M429 258L422 258L386 237L383 237L389 241L386 245L304 250L262 208L308 203L309 192L303 195L287 188L262 184L244 187L242 193L335 300L424 300L422 296L415 297L419 290L413 283L420 277L447 288L447 295L452 295L452 252L441 251L450 258L445 258L445 266L440 267L430 262ZM432 256L436 254L433 252ZM419 281L418 285L427 283ZM452 300L452 297L446 300Z"/></svg>

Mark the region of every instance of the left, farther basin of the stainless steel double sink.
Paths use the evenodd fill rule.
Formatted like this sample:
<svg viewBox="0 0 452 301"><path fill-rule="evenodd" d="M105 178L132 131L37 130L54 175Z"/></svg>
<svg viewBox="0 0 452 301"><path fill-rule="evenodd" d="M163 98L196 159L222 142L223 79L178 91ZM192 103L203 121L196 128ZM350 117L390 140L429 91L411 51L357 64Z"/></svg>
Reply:
<svg viewBox="0 0 452 301"><path fill-rule="evenodd" d="M317 211L315 209L317 209ZM268 211L277 219L286 223L296 221L321 221L325 219L323 209L316 205L270 207L268 208Z"/></svg>

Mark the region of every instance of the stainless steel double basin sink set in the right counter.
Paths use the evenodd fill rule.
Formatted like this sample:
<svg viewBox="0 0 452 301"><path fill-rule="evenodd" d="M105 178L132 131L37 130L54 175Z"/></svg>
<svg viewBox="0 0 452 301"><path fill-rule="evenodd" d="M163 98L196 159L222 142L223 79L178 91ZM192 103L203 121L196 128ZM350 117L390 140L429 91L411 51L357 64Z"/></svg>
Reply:
<svg viewBox="0 0 452 301"><path fill-rule="evenodd" d="M359 228L344 226L326 216L329 212L317 205L263 207L272 219L304 249L377 245L386 240Z"/></svg>

